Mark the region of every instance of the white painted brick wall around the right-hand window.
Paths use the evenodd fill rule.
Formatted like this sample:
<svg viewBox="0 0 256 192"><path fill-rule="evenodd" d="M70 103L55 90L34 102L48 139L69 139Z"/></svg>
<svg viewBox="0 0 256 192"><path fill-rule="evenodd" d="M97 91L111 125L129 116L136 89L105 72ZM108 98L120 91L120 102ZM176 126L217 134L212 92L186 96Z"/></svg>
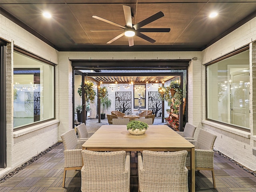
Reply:
<svg viewBox="0 0 256 192"><path fill-rule="evenodd" d="M243 26L236 29L234 32L228 34L218 42L202 51L203 64L210 62L224 54L232 52L246 44L250 43L250 128L251 138L246 138L243 134L234 134L232 130L223 130L224 126L210 126L207 121L203 124L203 129L217 135L215 147L223 154L236 160L247 168L256 171L256 156L252 155L252 149L256 149L254 136L256 133L256 116L254 110L256 109L256 96L254 90L256 87L255 80L255 66L256 54L255 43L256 40L256 18L253 18ZM205 81L205 78L204 78ZM205 87L205 86L204 86ZM204 94L205 95L205 94ZM205 103L205 102L204 102ZM204 110L205 111L205 110ZM242 132L242 131L240 131Z"/></svg>

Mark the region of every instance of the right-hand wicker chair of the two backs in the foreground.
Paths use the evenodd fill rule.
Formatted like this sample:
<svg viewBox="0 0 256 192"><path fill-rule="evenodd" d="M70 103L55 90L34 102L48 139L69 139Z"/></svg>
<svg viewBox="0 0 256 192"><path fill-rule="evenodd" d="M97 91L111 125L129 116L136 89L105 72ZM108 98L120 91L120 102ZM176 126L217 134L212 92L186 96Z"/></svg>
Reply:
<svg viewBox="0 0 256 192"><path fill-rule="evenodd" d="M186 150L176 152L138 152L140 192L188 192ZM143 158L143 159L142 159Z"/></svg>

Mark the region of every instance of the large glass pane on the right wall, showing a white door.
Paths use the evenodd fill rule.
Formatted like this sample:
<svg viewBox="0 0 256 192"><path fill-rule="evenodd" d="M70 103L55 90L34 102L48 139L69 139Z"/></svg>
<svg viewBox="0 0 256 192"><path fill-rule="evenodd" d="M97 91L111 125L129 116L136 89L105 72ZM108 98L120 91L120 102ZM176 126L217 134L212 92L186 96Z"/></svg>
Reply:
<svg viewBox="0 0 256 192"><path fill-rule="evenodd" d="M207 118L249 129L249 50L207 66Z"/></svg>

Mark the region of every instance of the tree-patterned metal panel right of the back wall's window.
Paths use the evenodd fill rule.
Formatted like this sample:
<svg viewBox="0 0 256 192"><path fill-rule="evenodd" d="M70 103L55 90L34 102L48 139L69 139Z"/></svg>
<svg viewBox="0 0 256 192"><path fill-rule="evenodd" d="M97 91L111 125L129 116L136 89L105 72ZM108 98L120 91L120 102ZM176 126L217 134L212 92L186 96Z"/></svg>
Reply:
<svg viewBox="0 0 256 192"><path fill-rule="evenodd" d="M148 92L148 110L152 110L152 114L156 114L156 117L162 116L162 100L158 91Z"/></svg>

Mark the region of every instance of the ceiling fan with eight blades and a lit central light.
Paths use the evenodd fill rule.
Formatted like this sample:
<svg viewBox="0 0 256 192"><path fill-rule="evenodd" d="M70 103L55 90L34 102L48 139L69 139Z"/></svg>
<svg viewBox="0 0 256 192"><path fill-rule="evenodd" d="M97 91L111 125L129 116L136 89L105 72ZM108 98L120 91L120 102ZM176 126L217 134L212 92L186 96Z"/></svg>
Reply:
<svg viewBox="0 0 256 192"><path fill-rule="evenodd" d="M145 26L146 24L149 24L149 23L163 17L164 13L161 11L134 25L134 24L132 24L131 7L127 6L127 5L123 5L123 9L124 9L124 18L125 18L126 26L122 26L120 24L106 20L106 19L101 18L96 15L92 16L93 18L96 18L98 20L101 20L101 21L107 22L109 24L112 24L114 26L120 27L120 28L122 28L121 30L91 30L91 31L92 32L123 31L123 33L121 33L120 35L116 36L115 38L113 38L112 40L107 42L107 44L110 44L110 43L114 42L115 40L117 40L118 38L125 35L128 37L129 46L134 45L134 40L133 40L134 35L136 35L150 43L156 42L156 40L142 34L141 32L170 32L170 28L141 28L141 27Z"/></svg>

